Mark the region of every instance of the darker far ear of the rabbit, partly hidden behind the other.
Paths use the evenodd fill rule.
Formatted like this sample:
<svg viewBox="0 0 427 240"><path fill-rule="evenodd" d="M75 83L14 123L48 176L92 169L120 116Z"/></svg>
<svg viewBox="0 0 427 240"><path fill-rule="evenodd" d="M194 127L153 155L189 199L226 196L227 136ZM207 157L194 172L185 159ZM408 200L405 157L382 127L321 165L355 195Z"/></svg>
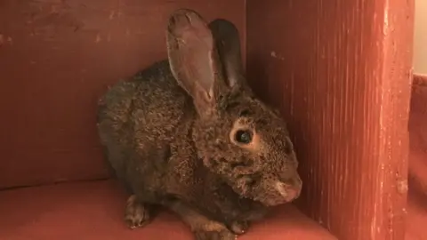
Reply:
<svg viewBox="0 0 427 240"><path fill-rule="evenodd" d="M229 87L245 84L238 28L229 20L217 19L209 23L218 49L222 68Z"/></svg>

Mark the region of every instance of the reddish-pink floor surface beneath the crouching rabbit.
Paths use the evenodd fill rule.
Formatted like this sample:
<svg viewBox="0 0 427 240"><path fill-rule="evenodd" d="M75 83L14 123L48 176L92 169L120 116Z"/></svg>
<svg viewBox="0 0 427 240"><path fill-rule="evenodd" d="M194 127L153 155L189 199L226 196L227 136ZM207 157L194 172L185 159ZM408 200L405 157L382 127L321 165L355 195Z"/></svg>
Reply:
<svg viewBox="0 0 427 240"><path fill-rule="evenodd" d="M192 239L189 229L166 212L145 228L126 228L122 221L126 197L120 189L115 181L102 180L0 192L0 239ZM238 239L336 238L287 206Z"/></svg>

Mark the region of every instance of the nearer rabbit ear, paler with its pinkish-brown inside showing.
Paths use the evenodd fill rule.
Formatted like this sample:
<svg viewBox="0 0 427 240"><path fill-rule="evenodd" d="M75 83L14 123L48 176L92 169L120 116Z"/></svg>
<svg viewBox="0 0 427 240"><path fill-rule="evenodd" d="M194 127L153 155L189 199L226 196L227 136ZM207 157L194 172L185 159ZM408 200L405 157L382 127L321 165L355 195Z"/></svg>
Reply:
<svg viewBox="0 0 427 240"><path fill-rule="evenodd" d="M173 76L191 95L200 115L214 110L221 64L214 37L197 12L173 12L167 27L167 52Z"/></svg>

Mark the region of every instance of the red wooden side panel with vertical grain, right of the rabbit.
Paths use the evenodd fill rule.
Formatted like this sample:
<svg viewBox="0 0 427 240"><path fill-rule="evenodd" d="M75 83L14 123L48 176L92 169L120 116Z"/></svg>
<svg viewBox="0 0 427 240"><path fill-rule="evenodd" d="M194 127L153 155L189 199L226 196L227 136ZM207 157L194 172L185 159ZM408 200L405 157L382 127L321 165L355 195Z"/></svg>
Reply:
<svg viewBox="0 0 427 240"><path fill-rule="evenodd" d="M288 118L299 203L340 239L403 239L414 3L247 1L248 76Z"/></svg>

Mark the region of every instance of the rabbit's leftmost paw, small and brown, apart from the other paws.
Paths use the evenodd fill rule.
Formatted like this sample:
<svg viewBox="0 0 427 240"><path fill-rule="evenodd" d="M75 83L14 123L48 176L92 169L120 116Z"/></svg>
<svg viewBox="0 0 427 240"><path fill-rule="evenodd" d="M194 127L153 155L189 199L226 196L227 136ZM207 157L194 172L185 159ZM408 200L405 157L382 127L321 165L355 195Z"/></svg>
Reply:
<svg viewBox="0 0 427 240"><path fill-rule="evenodd" d="M136 196L127 199L125 209L125 222L129 228L141 228L152 220L152 209L149 204L137 201Z"/></svg>

